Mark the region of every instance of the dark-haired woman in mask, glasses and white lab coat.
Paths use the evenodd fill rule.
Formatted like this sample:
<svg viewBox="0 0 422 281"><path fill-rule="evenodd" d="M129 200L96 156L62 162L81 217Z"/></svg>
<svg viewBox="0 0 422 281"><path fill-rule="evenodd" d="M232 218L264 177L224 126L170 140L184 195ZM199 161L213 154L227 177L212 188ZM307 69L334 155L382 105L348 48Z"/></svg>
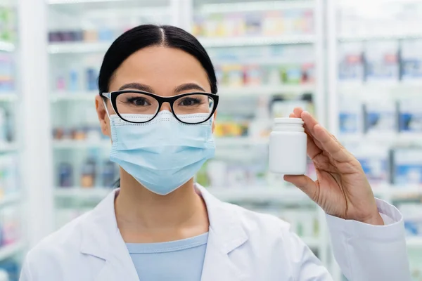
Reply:
<svg viewBox="0 0 422 281"><path fill-rule="evenodd" d="M215 72L177 27L141 25L108 49L96 110L120 165L120 189L46 237L21 280L332 280L278 218L220 202L193 183L214 155ZM285 176L326 211L352 281L410 280L402 216L373 197L357 159L307 112L318 181Z"/></svg>

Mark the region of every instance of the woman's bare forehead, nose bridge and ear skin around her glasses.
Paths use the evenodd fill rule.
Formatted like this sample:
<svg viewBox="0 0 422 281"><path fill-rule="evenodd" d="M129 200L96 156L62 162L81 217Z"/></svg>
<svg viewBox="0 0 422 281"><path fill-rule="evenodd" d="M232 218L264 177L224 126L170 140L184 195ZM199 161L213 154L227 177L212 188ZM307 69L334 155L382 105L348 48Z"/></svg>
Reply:
<svg viewBox="0 0 422 281"><path fill-rule="evenodd" d="M211 92L207 72L193 55L164 46L143 48L124 60L110 81L109 91L126 89L166 97L189 92ZM110 100L107 107L110 115L115 114ZM110 123L100 96L96 96L96 110L101 131L110 136ZM160 110L171 111L170 105L164 103Z"/></svg>

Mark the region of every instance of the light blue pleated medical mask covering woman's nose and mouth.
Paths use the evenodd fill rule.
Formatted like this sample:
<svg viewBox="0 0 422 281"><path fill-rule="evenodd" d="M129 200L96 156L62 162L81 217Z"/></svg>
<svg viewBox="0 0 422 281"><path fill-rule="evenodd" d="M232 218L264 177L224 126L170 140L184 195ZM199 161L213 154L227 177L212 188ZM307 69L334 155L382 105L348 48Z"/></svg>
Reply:
<svg viewBox="0 0 422 281"><path fill-rule="evenodd" d="M150 117L124 115L130 121ZM190 122L197 118L199 122L203 115L179 117L185 118ZM202 124L184 124L172 112L163 110L151 122L141 124L111 115L110 127L110 160L159 195L167 195L189 181L215 155L212 119Z"/></svg>

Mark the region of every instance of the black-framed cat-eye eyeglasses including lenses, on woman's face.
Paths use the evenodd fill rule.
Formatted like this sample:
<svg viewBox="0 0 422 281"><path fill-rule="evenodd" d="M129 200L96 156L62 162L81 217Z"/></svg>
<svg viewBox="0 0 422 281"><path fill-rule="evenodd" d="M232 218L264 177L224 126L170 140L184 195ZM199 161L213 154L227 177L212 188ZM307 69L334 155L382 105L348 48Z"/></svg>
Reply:
<svg viewBox="0 0 422 281"><path fill-rule="evenodd" d="M200 124L209 120L217 109L218 98L215 93L182 93L172 97L157 96L144 91L124 90L101 93L108 98L116 114L126 122L150 122L160 112L163 103L169 103L174 117L185 124ZM143 115L141 119L127 115ZM195 115L195 118L188 118ZM140 121L141 120L141 121Z"/></svg>

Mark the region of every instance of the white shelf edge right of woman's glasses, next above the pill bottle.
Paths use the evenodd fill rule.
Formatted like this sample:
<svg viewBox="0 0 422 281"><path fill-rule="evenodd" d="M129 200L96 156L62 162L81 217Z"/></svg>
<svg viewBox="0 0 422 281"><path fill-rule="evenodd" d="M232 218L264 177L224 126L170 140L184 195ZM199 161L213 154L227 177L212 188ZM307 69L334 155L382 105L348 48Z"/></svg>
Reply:
<svg viewBox="0 0 422 281"><path fill-rule="evenodd" d="M222 86L219 87L218 94L222 98L242 98L245 96L273 96L283 94L300 95L302 93L310 93L315 90L314 84L302 85L265 85L265 86Z"/></svg>

